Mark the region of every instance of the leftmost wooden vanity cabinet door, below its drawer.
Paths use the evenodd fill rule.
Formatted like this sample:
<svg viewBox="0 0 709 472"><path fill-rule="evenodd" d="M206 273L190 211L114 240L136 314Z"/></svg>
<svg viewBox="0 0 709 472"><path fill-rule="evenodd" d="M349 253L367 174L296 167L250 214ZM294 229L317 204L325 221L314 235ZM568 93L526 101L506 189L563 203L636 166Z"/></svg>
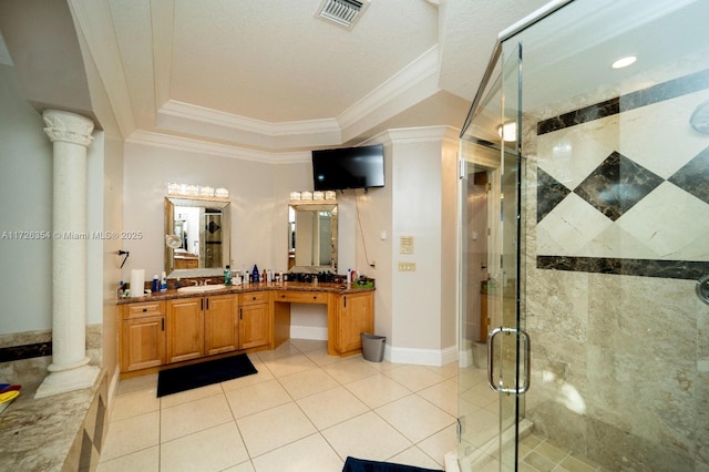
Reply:
<svg viewBox="0 0 709 472"><path fill-rule="evenodd" d="M121 372L165 363L165 317L121 321Z"/></svg>

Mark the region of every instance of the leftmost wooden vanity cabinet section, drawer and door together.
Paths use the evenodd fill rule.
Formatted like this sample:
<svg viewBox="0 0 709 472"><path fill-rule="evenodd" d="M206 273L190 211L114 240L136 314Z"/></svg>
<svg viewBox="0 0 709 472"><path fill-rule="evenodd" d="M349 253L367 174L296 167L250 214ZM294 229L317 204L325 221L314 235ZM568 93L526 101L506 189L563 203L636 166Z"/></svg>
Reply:
<svg viewBox="0 0 709 472"><path fill-rule="evenodd" d="M123 305L119 338L122 372L165 363L165 302Z"/></svg>

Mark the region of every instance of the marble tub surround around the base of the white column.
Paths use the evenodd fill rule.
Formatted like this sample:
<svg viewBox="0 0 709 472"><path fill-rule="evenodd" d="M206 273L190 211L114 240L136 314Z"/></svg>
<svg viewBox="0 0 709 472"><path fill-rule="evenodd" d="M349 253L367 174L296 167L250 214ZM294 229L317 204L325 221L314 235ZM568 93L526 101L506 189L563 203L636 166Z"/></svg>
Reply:
<svg viewBox="0 0 709 472"><path fill-rule="evenodd" d="M101 325L86 326L86 355L101 365ZM107 422L107 383L102 372L89 389L34 399L52 362L52 332L0 336L0 381L21 384L0 412L0 464L17 471L94 470Z"/></svg>

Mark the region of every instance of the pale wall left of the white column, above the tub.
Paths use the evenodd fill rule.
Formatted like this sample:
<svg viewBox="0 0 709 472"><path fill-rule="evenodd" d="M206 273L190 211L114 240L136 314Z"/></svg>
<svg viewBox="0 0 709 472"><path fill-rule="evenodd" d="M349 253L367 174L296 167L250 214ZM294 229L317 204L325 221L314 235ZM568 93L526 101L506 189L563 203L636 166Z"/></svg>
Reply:
<svg viewBox="0 0 709 472"><path fill-rule="evenodd" d="M43 127L14 68L0 64L0 335L52 326L52 242L10 234L52 230L52 144Z"/></svg>

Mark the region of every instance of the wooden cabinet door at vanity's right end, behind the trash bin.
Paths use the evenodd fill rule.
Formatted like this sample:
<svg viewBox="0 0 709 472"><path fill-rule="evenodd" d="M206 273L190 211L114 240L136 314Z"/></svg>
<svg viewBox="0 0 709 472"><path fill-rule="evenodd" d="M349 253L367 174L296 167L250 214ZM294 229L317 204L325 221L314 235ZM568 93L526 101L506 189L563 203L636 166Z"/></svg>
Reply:
<svg viewBox="0 0 709 472"><path fill-rule="evenodd" d="M348 294L340 296L340 317L337 324L338 348L340 352L362 348L362 332L372 334L374 329L374 297L364 294Z"/></svg>

